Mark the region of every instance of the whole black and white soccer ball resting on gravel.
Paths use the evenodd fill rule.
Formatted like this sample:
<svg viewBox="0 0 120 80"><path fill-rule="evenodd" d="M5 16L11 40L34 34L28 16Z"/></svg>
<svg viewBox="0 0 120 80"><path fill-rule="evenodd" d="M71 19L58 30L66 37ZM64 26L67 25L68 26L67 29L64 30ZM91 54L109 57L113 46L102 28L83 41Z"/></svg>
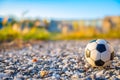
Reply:
<svg viewBox="0 0 120 80"><path fill-rule="evenodd" d="M110 66L114 58L114 49L104 39L92 40L85 48L85 58L92 67Z"/></svg>

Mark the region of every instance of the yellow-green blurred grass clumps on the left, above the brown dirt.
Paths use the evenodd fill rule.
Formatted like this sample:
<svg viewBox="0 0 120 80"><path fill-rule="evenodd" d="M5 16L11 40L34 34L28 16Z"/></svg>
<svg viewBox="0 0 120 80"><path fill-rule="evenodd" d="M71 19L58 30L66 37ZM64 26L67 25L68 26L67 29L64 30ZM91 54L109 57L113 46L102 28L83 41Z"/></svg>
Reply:
<svg viewBox="0 0 120 80"><path fill-rule="evenodd" d="M16 39L28 40L48 40L50 34L45 29L31 28L27 33L18 32L11 27L4 27L0 30L0 42L9 42Z"/></svg>

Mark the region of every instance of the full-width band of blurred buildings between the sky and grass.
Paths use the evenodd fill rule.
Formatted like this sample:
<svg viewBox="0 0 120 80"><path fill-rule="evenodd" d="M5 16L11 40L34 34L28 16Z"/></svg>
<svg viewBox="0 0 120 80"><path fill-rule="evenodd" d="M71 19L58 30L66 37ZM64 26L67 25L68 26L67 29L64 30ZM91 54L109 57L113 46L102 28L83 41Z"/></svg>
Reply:
<svg viewBox="0 0 120 80"><path fill-rule="evenodd" d="M95 20L51 20L48 22L45 20L22 20L16 21L14 18L4 17L0 18L0 29L3 26L11 24L13 30L16 31L29 31L30 28L45 28L50 32L62 32L67 33L70 31L82 31L85 32L89 27L95 29L97 32L109 32L110 30L120 29L120 16L108 16L104 19Z"/></svg>

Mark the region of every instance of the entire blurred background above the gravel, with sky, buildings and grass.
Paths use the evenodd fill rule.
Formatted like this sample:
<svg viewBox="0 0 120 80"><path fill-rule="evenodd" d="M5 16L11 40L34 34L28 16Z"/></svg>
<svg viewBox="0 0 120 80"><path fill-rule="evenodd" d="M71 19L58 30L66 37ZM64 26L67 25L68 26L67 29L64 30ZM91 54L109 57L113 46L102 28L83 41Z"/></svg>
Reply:
<svg viewBox="0 0 120 80"><path fill-rule="evenodd" d="M0 0L0 42L120 38L120 0Z"/></svg>

